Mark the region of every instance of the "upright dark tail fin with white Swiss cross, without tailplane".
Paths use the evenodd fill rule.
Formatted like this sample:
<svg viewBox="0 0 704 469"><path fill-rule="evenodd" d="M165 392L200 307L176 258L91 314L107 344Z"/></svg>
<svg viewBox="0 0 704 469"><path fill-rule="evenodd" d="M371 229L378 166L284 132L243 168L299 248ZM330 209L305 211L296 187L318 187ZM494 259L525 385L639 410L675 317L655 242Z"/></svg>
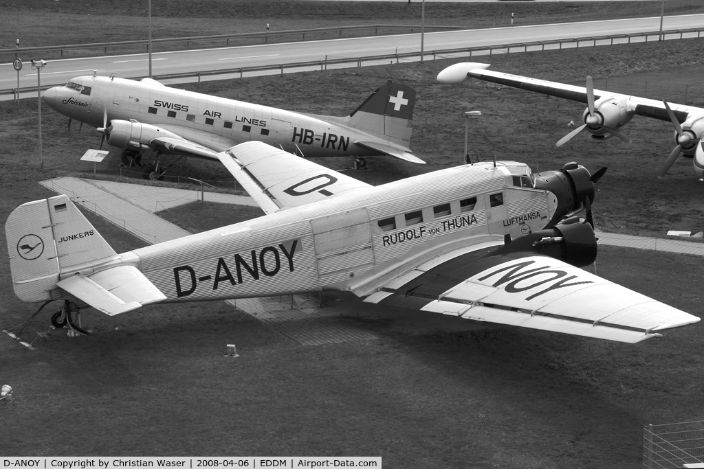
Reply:
<svg viewBox="0 0 704 469"><path fill-rule="evenodd" d="M392 143L410 145L415 90L391 80L377 89L351 115L350 125L388 137Z"/></svg>

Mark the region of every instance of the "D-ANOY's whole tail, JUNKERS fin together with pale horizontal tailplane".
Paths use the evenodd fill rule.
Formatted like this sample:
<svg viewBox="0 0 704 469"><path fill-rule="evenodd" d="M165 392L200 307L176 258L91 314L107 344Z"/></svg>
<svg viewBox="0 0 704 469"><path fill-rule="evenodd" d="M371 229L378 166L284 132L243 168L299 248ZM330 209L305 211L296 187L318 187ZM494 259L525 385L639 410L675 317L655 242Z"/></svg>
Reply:
<svg viewBox="0 0 704 469"><path fill-rule="evenodd" d="M20 300L73 298L119 314L166 298L136 266L120 262L66 195L20 205L5 233Z"/></svg>

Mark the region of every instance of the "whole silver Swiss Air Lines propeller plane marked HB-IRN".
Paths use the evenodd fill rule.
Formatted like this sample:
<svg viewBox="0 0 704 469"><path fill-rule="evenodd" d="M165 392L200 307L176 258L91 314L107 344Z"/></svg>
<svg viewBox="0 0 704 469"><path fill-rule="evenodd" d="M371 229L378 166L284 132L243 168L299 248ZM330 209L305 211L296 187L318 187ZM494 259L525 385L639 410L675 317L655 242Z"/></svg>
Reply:
<svg viewBox="0 0 704 469"><path fill-rule="evenodd" d="M122 148L124 165L139 163L142 150L215 158L251 140L306 158L352 156L361 167L362 157L371 155L424 163L409 148L415 91L391 81L347 117L293 113L170 88L151 78L77 77L46 90L44 101L98 127L103 139ZM159 158L156 175L158 165Z"/></svg>

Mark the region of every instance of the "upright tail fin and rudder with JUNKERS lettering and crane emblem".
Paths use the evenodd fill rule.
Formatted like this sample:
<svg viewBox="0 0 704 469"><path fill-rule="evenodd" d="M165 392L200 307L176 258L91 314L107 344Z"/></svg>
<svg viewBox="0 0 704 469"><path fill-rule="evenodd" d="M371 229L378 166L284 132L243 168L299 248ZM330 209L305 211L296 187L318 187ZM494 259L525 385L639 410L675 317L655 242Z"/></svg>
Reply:
<svg viewBox="0 0 704 469"><path fill-rule="evenodd" d="M15 294L26 302L56 299L61 274L116 255L66 195L20 205L5 233Z"/></svg>

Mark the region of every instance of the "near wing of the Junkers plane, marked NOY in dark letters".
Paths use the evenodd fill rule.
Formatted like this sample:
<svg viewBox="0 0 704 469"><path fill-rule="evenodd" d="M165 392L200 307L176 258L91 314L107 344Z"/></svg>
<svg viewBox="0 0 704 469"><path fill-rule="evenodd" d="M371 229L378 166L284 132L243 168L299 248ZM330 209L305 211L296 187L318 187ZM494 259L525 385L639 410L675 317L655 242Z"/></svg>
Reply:
<svg viewBox="0 0 704 469"><path fill-rule="evenodd" d="M397 276L382 276L364 301L630 343L700 321L553 257L492 255L498 245L426 257ZM355 293L363 296L363 288Z"/></svg>

